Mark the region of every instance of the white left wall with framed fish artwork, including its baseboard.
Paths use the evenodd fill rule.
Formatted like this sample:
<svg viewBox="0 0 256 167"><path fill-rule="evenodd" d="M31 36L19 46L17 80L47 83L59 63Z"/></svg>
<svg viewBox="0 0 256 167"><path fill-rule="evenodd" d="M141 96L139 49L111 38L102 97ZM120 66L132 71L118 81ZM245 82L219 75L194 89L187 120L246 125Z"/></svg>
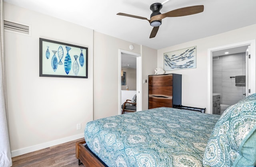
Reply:
<svg viewBox="0 0 256 167"><path fill-rule="evenodd" d="M93 30L8 3L4 19L32 26L32 36L5 32L12 156L82 138L93 120ZM40 37L88 47L88 79L39 77Z"/></svg>

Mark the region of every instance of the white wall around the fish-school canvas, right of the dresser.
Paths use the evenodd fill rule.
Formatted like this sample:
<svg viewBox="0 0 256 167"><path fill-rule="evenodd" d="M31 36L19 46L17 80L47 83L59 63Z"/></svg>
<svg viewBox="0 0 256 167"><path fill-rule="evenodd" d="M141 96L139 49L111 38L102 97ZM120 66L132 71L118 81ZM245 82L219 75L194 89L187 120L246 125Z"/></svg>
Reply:
<svg viewBox="0 0 256 167"><path fill-rule="evenodd" d="M182 105L207 107L208 96L208 49L222 45L229 45L242 41L256 39L256 24L247 26L226 33L189 41L175 46L166 47L158 50L158 67L163 68L163 54L169 51L176 51L191 46L197 46L196 69L184 69L167 71L166 73L182 74ZM254 62L256 63L256 62ZM254 85L255 86L255 85ZM210 110L206 108L206 112Z"/></svg>

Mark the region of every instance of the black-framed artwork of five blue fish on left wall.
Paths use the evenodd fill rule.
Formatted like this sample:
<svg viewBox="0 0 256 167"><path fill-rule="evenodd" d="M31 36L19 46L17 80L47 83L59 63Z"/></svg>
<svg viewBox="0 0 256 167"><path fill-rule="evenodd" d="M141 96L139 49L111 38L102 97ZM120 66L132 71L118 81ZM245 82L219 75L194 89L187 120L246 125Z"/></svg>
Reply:
<svg viewBox="0 0 256 167"><path fill-rule="evenodd" d="M88 48L39 38L39 76L88 78Z"/></svg>

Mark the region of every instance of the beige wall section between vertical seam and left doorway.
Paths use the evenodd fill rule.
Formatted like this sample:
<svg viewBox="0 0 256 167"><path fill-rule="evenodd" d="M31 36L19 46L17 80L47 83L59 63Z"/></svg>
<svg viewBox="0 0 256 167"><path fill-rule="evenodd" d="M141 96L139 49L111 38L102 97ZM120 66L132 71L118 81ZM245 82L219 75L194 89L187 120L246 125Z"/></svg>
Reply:
<svg viewBox="0 0 256 167"><path fill-rule="evenodd" d="M94 32L94 120L119 114L119 52L140 54L140 45ZM156 57L155 57L156 59Z"/></svg>

